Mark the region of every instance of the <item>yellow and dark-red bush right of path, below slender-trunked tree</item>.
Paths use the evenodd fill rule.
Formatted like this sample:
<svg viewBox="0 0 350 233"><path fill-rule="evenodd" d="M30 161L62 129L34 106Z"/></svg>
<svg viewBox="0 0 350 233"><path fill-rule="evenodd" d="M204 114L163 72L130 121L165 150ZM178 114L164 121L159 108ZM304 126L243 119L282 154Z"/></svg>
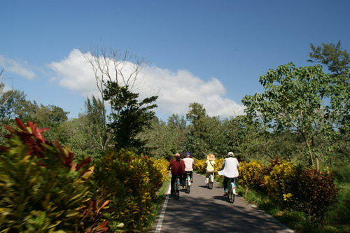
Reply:
<svg viewBox="0 0 350 233"><path fill-rule="evenodd" d="M272 168L265 176L265 187L274 202L307 213L315 222L323 220L335 204L338 191L332 174L295 167L289 162Z"/></svg>

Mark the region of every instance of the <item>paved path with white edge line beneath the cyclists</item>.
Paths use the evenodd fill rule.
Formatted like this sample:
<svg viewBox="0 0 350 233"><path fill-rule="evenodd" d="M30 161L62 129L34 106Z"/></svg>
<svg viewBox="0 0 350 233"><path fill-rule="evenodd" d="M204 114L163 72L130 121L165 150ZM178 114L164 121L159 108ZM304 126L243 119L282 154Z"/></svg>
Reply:
<svg viewBox="0 0 350 233"><path fill-rule="evenodd" d="M246 204L242 197L236 196L235 203L229 203L218 183L209 190L204 176L194 174L193 178L190 194L181 191L179 201L169 198L168 190L162 213L153 227L154 233L293 232Z"/></svg>

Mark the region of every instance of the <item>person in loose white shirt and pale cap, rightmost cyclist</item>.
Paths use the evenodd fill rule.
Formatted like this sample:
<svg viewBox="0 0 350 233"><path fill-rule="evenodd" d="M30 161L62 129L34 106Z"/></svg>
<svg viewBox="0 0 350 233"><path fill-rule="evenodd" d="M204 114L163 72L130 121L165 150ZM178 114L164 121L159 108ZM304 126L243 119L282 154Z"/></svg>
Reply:
<svg viewBox="0 0 350 233"><path fill-rule="evenodd" d="M238 176L239 162L233 157L233 153L229 152L228 157L223 161L223 167L218 171L218 174L224 176L223 178L223 189L224 196L228 194L228 179L236 178Z"/></svg>

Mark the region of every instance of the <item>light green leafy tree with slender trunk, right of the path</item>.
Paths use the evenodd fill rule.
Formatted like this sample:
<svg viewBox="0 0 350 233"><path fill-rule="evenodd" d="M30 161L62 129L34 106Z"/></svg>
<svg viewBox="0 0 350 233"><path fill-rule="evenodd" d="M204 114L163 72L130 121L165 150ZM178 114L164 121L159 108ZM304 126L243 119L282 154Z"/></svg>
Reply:
<svg viewBox="0 0 350 233"><path fill-rule="evenodd" d="M315 137L333 131L332 122L325 118L323 99L327 97L330 76L321 66L295 68L293 63L270 69L260 76L265 87L262 94L245 96L242 103L246 114L258 117L273 129L290 129L298 132L307 146L309 162L318 167Z"/></svg>

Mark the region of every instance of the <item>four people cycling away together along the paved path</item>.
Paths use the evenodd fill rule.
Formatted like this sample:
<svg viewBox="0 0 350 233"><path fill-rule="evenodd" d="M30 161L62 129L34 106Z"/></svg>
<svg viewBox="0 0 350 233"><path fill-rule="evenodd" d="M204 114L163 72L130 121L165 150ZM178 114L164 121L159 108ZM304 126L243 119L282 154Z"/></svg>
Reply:
<svg viewBox="0 0 350 233"><path fill-rule="evenodd" d="M193 165L195 164L195 160L193 160L192 156L188 152L185 154L185 157L183 159L181 158L181 155L179 153L176 153L174 156L175 158L169 163L169 170L171 170L172 173L171 195L174 195L175 193L174 191L176 178L180 179L180 183L183 185L183 187L187 174L190 174L191 182L193 182ZM211 174L213 174L215 169L215 155L207 155L205 168L205 183L209 185L209 177ZM221 167L220 171L218 171L219 175L224 176L224 196L228 194L228 180L230 178L238 177L238 168L238 160L234 157L234 154L232 152L229 152L228 157L225 158L223 162L223 166Z"/></svg>

